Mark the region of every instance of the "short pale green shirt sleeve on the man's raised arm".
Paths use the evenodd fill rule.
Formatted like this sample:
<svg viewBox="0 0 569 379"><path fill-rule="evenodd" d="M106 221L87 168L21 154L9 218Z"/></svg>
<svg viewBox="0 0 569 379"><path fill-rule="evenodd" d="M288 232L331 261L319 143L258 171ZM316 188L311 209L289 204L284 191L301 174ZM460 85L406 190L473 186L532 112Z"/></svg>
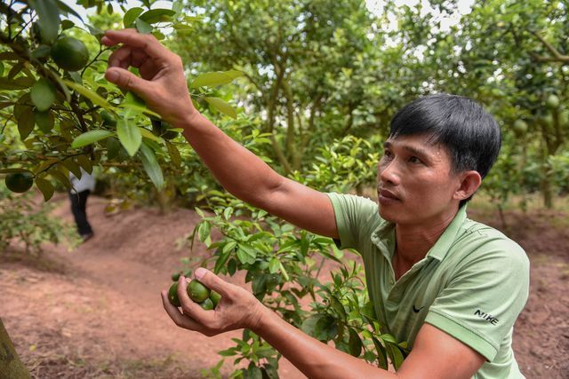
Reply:
<svg viewBox="0 0 569 379"><path fill-rule="evenodd" d="M332 201L340 249L358 249L364 236L377 225L378 206L374 201L352 194L327 193Z"/></svg>

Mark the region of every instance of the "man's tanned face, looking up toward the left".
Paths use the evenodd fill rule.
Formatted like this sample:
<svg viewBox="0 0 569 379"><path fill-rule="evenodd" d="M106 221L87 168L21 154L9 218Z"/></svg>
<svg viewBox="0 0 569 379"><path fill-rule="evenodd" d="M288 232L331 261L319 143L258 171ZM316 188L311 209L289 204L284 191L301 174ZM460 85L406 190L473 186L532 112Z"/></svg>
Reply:
<svg viewBox="0 0 569 379"><path fill-rule="evenodd" d="M453 193L461 186L451 173L444 146L424 134L389 138L378 163L378 199L382 218L400 225L446 221L457 209Z"/></svg>

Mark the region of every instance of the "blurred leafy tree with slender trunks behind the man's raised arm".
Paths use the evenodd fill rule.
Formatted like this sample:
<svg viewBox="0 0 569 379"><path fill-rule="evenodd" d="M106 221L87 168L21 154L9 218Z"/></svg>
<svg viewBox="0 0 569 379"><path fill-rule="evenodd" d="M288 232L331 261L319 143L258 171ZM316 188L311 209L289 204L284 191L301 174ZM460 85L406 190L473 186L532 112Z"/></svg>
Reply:
<svg viewBox="0 0 569 379"><path fill-rule="evenodd" d="M393 66L378 59L384 41L365 2L196 1L187 9L201 21L179 34L176 50L194 69L244 72L241 103L262 117L267 154L284 174L308 168L334 138L385 134L393 107L381 85Z"/></svg>

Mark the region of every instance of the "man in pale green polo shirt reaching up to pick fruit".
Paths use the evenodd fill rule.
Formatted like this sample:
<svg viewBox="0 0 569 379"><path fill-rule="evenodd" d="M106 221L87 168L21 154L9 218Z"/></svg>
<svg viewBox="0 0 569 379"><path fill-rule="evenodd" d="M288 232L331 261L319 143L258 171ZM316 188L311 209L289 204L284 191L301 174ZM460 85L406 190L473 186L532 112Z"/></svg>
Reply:
<svg viewBox="0 0 569 379"><path fill-rule="evenodd" d="M187 280L180 278L181 312L162 293L178 326L206 336L250 328L309 377L522 376L511 336L528 296L527 258L503 234L470 221L464 206L501 144L496 122L474 101L436 95L394 117L378 164L378 207L284 178L228 138L192 107L180 58L153 36L108 31L102 43L122 43L109 58L107 79L182 128L230 193L357 249L378 317L412 351L397 373L373 367L305 335L203 268L196 278L221 294L220 304L204 311L189 300ZM141 77L129 66L139 67Z"/></svg>

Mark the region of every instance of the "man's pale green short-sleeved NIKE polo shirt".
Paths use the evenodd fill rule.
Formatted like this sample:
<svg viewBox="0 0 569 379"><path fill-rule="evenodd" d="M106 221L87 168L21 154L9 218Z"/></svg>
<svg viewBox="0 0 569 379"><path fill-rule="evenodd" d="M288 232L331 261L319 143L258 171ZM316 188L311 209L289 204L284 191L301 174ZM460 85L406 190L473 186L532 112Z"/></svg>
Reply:
<svg viewBox="0 0 569 379"><path fill-rule="evenodd" d="M516 242L467 218L461 207L426 257L395 280L395 225L364 197L328 193L342 249L356 249L385 331L413 343L423 323L485 357L475 378L524 377L512 351L512 331L529 293L529 261Z"/></svg>

